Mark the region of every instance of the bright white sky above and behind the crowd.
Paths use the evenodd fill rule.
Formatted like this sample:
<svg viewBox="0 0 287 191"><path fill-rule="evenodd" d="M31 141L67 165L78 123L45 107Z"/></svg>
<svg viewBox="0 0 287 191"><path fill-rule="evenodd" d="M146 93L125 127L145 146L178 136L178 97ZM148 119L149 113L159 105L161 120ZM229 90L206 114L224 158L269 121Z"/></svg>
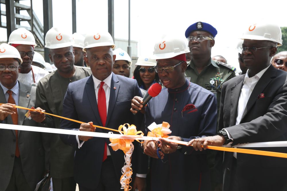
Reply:
<svg viewBox="0 0 287 191"><path fill-rule="evenodd" d="M21 3L30 5L30 0ZM76 3L77 32L108 30L107 0L77 0ZM128 39L128 0L114 3L115 38ZM207 22L218 31L212 56L222 55L240 70L236 50L238 37L254 23L264 21L287 26L284 7L287 7L286 0L131 0L131 40L139 42L138 56L152 54L154 42L164 34L185 38L189 25ZM42 21L42 0L33 0L33 8ZM53 0L53 26L72 32L71 14L71 0ZM7 40L5 30L0 30L0 34L0 40Z"/></svg>

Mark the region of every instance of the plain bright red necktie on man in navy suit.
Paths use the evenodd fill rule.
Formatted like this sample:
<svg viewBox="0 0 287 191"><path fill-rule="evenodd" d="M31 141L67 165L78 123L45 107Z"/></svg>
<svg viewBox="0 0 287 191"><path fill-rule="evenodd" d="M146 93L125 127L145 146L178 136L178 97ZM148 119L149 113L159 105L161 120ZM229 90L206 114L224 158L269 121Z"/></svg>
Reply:
<svg viewBox="0 0 287 191"><path fill-rule="evenodd" d="M102 124L105 127L107 120L107 107L106 107L106 94L103 88L104 83L105 82L101 82L100 89L98 91L98 111L100 114ZM104 156L102 161L104 162L106 159L107 159L107 143L105 141Z"/></svg>

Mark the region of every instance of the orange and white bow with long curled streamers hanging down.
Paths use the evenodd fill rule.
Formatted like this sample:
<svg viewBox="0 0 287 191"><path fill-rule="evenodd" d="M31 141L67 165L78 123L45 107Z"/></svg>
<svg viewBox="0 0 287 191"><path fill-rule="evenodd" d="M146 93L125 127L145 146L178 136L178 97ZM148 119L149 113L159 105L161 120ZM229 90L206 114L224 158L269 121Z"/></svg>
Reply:
<svg viewBox="0 0 287 191"><path fill-rule="evenodd" d="M125 125L127 125L128 128L125 127ZM142 131L137 131L135 125L129 125L128 123L120 125L119 132L121 133L121 135L133 135L133 136L137 135L141 137L144 135ZM131 183L131 175L133 174L133 170L131 168L131 155L133 154L134 149L132 143L133 141L134 140L132 139L110 138L111 143L109 144L114 151L121 149L125 153L125 164L122 168L123 175L120 178L120 183L122 187L121 189L124 189L125 191L132 189L131 186L129 186L129 183Z"/></svg>

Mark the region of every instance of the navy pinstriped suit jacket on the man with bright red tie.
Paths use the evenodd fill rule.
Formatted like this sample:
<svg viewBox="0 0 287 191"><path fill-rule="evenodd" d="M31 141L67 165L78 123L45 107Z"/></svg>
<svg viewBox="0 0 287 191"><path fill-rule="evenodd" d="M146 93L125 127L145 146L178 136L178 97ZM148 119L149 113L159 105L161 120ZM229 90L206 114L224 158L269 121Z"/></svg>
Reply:
<svg viewBox="0 0 287 191"><path fill-rule="evenodd" d="M141 96L137 81L119 76L113 73L110 86L110 100L106 127L118 129L124 123L135 124L139 129L142 115L134 116L129 109L131 99L134 96ZM83 122L92 121L95 125L102 126L94 88L92 76L72 82L69 84L63 102L63 116ZM79 130L80 124L72 121L61 121L62 129ZM108 130L96 128L96 132L108 133ZM60 135L62 141L77 147L75 135ZM102 158L104 153L104 142L110 143L108 138L94 137L86 141L80 149L76 149L74 177L76 182L89 189L96 189L100 179ZM145 173L137 169L137 141L134 141L135 150L133 151L132 165L133 173ZM124 165L124 153L122 150L113 151L108 146L113 160L114 172L120 180L121 168ZM141 150L142 153L142 150ZM120 189L119 183L119 189Z"/></svg>

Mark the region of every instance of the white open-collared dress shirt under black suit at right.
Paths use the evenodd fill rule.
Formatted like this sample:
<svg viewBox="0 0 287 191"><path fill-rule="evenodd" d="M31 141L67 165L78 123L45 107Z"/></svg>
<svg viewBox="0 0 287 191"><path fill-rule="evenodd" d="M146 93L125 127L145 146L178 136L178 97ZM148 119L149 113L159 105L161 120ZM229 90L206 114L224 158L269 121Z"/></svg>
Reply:
<svg viewBox="0 0 287 191"><path fill-rule="evenodd" d="M237 117L236 117L236 123L235 125L238 125L242 119L242 115L243 112L245 110L245 107L247 105L247 102L249 100L249 97L253 91L253 89L255 88L257 82L259 81L259 79L261 78L261 76L266 72L266 70L270 67L270 65L268 67L266 67L265 69L261 70L260 72L258 72L255 76L249 78L248 73L249 70L247 70L246 74L245 74L245 78L243 81L243 86L241 88L241 92L240 92L240 97L238 100L238 106L237 106ZM226 131L226 129L224 129ZM228 133L228 131L226 131L228 138L232 139L232 136ZM232 144L232 142L230 142L229 144ZM237 153L233 153L233 156L235 158L237 158Z"/></svg>

